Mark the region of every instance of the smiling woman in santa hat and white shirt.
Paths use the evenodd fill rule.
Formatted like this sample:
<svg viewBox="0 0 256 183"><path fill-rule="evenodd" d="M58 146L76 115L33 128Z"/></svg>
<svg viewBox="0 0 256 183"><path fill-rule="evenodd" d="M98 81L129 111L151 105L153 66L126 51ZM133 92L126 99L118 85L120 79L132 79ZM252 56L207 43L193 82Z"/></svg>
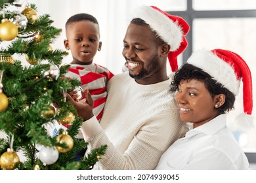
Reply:
<svg viewBox="0 0 256 183"><path fill-rule="evenodd" d="M193 129L161 156L156 169L248 169L249 163L226 126L234 108L240 78L244 81L244 112L251 114L251 72L245 61L228 50L192 54L171 82L182 122Z"/></svg>

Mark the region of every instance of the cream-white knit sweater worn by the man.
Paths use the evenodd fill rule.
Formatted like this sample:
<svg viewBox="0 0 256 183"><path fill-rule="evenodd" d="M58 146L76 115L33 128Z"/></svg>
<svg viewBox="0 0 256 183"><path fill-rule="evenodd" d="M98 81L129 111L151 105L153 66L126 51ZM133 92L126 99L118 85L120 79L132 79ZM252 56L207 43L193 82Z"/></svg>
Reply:
<svg viewBox="0 0 256 183"><path fill-rule="evenodd" d="M171 80L137 84L129 73L108 82L108 98L100 124L95 117L81 131L88 150L107 144L95 169L154 169L161 154L186 131L178 105L169 92Z"/></svg>

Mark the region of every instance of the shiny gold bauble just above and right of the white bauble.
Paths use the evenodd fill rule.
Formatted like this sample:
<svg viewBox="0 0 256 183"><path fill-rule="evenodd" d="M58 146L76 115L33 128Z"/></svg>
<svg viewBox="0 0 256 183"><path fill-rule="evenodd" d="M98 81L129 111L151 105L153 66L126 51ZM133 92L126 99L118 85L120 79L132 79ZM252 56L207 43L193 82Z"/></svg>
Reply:
<svg viewBox="0 0 256 183"><path fill-rule="evenodd" d="M56 137L56 141L59 142L60 144L66 144L66 148L62 148L60 146L56 146L58 152L66 153L70 150L72 150L74 146L74 140L70 135L68 135L67 131L64 131L61 135L58 135Z"/></svg>

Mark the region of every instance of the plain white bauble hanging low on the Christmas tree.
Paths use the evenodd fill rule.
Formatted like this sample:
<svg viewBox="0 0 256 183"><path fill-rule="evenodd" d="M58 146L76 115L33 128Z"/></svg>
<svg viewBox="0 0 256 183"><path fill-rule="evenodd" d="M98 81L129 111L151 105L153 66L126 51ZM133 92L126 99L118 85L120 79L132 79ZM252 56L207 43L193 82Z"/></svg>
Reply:
<svg viewBox="0 0 256 183"><path fill-rule="evenodd" d="M56 147L43 146L39 151L39 159L47 165L51 165L58 160L58 150Z"/></svg>

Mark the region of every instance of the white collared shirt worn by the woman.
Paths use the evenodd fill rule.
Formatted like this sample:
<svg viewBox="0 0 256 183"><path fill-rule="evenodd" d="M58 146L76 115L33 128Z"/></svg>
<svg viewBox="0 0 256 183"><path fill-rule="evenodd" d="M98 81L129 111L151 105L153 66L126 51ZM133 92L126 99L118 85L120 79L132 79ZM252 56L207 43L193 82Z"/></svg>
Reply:
<svg viewBox="0 0 256 183"><path fill-rule="evenodd" d="M226 114L200 125L161 156L156 169L248 169L242 148L226 126Z"/></svg>

